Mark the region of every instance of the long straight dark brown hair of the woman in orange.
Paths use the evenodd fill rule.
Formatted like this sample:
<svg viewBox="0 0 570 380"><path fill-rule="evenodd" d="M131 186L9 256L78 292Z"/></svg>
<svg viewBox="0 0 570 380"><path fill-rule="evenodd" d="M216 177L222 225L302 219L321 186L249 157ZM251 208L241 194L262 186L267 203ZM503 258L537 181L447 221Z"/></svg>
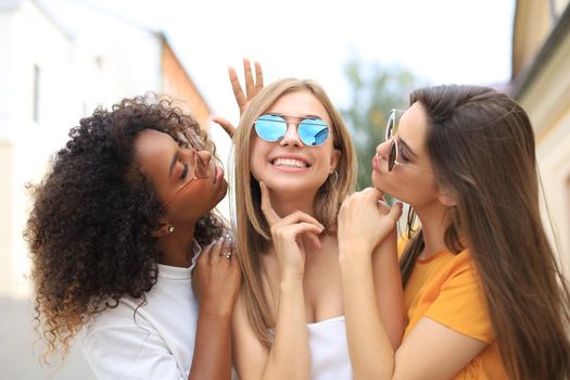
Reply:
<svg viewBox="0 0 570 380"><path fill-rule="evenodd" d="M415 102L427 112L436 180L457 202L445 243L471 252L509 378L566 379L570 293L541 220L527 113L484 87L419 89ZM401 259L404 286L422 249L419 231Z"/></svg>

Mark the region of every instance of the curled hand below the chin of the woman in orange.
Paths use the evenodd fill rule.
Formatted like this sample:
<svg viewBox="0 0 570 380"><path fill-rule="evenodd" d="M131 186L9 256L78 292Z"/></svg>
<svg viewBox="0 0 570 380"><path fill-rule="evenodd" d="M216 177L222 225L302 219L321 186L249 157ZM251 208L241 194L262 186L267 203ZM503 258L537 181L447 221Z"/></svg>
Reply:
<svg viewBox="0 0 570 380"><path fill-rule="evenodd" d="M365 189L346 198L339 212L339 245L358 246L372 253L392 231L402 215L402 203L390 207L378 189Z"/></svg>

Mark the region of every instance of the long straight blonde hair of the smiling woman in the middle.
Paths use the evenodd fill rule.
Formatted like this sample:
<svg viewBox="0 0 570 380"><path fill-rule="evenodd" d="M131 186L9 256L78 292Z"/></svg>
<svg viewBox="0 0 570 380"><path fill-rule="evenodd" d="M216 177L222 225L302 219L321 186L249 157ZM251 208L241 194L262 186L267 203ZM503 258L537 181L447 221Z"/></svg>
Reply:
<svg viewBox="0 0 570 380"><path fill-rule="evenodd" d="M315 199L316 218L325 226L322 233L335 229L337 214L344 198L354 191L355 153L349 131L325 90L313 80L281 79L264 88L250 103L233 136L236 152L236 219L240 265L243 273L242 297L253 331L265 346L271 344L270 328L275 326L269 304L263 291L263 267L259 255L270 244L269 227L261 210L259 183L251 175L251 137L255 119L280 97L295 91L308 91L327 110L331 119L333 145L341 151L335 175L328 177Z"/></svg>

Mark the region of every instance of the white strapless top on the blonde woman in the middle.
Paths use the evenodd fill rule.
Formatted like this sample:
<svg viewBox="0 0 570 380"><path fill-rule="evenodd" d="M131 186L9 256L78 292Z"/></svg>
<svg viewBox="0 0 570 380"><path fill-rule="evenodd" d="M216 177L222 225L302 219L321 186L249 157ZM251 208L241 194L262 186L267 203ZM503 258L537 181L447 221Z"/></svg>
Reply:
<svg viewBox="0 0 570 380"><path fill-rule="evenodd" d="M308 324L312 380L351 380L344 316Z"/></svg>

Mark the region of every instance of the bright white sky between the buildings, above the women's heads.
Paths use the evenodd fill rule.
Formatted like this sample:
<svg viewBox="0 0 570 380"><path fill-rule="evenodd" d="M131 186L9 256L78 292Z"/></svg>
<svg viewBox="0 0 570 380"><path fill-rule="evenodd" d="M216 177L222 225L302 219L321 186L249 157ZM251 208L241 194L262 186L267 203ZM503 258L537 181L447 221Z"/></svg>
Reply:
<svg viewBox="0 0 570 380"><path fill-rule="evenodd" d="M215 114L237 123L227 66L261 61L266 81L318 80L343 106L350 56L430 84L510 77L514 0L42 0L163 31ZM85 20L81 21L85 23ZM100 25L92 25L93 33Z"/></svg>

